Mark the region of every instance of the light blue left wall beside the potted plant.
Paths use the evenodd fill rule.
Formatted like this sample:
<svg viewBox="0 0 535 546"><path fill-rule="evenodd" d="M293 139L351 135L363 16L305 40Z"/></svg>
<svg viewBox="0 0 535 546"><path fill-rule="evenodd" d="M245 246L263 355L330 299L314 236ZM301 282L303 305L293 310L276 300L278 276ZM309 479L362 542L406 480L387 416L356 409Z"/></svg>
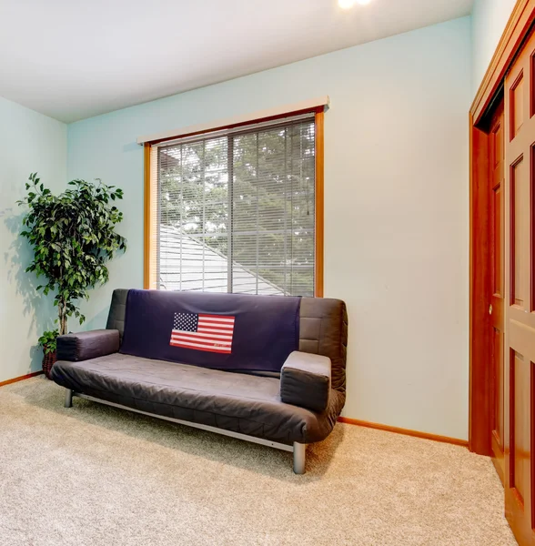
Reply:
<svg viewBox="0 0 535 546"><path fill-rule="evenodd" d="M41 367L36 339L53 326L51 301L35 297L31 259L18 237L25 181L38 171L48 187L66 183L66 125L0 97L0 382Z"/></svg>

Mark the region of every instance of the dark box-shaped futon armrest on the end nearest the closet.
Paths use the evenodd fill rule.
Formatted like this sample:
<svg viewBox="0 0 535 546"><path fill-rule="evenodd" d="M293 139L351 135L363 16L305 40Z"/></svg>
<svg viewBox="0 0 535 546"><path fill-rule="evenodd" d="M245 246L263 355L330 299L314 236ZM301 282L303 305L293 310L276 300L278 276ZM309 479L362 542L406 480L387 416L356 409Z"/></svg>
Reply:
<svg viewBox="0 0 535 546"><path fill-rule="evenodd" d="M327 357L295 350L280 370L280 399L308 410L326 410L330 368Z"/></svg>

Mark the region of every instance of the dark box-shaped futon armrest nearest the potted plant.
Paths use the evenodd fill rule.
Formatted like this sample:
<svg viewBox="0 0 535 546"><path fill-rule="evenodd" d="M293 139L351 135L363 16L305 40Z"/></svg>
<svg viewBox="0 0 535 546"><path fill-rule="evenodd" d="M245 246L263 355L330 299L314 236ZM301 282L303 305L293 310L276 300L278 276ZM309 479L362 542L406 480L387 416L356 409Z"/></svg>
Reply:
<svg viewBox="0 0 535 546"><path fill-rule="evenodd" d="M119 350L119 330L99 329L57 338L58 360L78 362L111 355Z"/></svg>

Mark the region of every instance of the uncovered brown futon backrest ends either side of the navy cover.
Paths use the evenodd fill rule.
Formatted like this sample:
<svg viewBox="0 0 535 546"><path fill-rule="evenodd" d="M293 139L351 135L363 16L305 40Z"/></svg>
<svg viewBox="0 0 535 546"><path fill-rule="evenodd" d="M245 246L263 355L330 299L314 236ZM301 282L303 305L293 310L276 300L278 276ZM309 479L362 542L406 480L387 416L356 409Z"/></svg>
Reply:
<svg viewBox="0 0 535 546"><path fill-rule="evenodd" d="M117 329L123 339L128 290L114 290L107 319L107 329ZM299 310L299 350L323 355L332 363L333 389L346 392L346 354L348 313L340 299L301 298Z"/></svg>

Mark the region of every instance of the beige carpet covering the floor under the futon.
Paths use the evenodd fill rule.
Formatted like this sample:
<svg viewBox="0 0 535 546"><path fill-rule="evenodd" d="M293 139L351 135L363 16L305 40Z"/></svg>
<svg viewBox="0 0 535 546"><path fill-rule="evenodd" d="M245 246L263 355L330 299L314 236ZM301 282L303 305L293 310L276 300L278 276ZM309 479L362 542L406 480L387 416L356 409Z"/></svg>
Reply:
<svg viewBox="0 0 535 546"><path fill-rule="evenodd" d="M489 459L339 425L291 454L75 399L0 388L1 546L515 544Z"/></svg>

